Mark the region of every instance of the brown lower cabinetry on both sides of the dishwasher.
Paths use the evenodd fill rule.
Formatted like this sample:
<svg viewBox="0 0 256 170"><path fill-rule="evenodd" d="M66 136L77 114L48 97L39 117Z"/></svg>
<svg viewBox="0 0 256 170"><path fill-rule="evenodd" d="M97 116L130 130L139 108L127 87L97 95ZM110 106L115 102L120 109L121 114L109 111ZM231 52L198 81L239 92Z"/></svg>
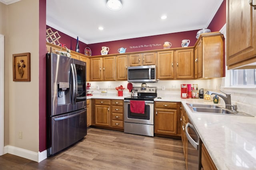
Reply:
<svg viewBox="0 0 256 170"><path fill-rule="evenodd" d="M183 106L180 107L180 126L181 126L181 139L182 139L182 145L183 145L183 151L184 151L184 158L186 162L186 168L188 169L188 139L186 137L185 133L185 127L186 124L191 121L188 118L188 115L183 108ZM206 150L204 144L202 143L202 154L201 154L201 164L202 168L201 170L217 170L216 166L214 165L214 162L212 161L212 158L210 157L208 151Z"/></svg>

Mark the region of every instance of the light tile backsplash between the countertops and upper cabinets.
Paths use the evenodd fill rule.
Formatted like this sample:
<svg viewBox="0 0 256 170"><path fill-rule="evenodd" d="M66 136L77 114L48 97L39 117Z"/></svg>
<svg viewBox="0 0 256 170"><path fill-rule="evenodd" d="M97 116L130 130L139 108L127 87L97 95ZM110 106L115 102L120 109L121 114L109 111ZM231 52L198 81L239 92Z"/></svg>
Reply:
<svg viewBox="0 0 256 170"><path fill-rule="evenodd" d="M232 88L224 87L225 78L214 78L210 80L160 80L155 83L146 83L147 86L157 87L157 93L159 95L169 96L180 98L180 84L198 84L198 90L204 88L204 93L207 90L223 92L231 94L231 103L236 104L238 111L243 111L245 113L256 116L256 88ZM91 89L94 93L100 93L101 90L107 89L108 95L114 94L117 96L116 87L122 85L124 90L124 97L130 96L130 93L127 89L127 81L102 81L102 82L90 82ZM140 87L142 83L133 83L134 87ZM162 90L163 89L163 90ZM221 92L220 92L221 93ZM223 100L220 100L221 104L224 104Z"/></svg>

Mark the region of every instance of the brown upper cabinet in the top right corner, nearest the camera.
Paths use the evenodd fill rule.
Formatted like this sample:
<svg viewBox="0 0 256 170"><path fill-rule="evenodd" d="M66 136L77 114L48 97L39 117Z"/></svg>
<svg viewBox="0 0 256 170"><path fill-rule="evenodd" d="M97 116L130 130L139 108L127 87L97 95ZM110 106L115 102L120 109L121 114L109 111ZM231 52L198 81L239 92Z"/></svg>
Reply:
<svg viewBox="0 0 256 170"><path fill-rule="evenodd" d="M256 10L248 1L227 0L226 26L228 69L256 68Z"/></svg>

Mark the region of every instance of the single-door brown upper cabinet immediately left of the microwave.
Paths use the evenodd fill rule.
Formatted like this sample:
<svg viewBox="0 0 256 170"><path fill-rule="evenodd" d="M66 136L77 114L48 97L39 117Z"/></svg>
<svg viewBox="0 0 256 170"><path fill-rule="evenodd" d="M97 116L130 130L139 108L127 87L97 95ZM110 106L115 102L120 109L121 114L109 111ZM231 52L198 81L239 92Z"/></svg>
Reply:
<svg viewBox="0 0 256 170"><path fill-rule="evenodd" d="M116 56L116 80L127 80L128 55Z"/></svg>

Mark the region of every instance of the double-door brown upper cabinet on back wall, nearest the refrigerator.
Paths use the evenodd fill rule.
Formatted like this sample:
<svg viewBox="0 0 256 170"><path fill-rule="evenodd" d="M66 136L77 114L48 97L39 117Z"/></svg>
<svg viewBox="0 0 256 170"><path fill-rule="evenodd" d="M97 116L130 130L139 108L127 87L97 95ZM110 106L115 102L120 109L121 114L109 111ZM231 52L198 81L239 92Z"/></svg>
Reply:
<svg viewBox="0 0 256 170"><path fill-rule="evenodd" d="M91 59L91 81L116 80L116 57Z"/></svg>

